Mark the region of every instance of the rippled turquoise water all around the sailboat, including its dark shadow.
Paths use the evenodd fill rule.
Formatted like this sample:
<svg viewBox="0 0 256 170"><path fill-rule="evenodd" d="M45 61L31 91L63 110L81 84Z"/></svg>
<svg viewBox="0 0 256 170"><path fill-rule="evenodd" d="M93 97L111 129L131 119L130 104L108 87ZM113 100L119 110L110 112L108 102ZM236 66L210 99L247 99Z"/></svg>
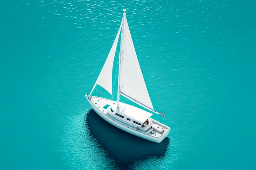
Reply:
<svg viewBox="0 0 256 170"><path fill-rule="evenodd" d="M124 8L160 145L84 97ZM0 169L256 169L254 0L0 0L0 21Z"/></svg>

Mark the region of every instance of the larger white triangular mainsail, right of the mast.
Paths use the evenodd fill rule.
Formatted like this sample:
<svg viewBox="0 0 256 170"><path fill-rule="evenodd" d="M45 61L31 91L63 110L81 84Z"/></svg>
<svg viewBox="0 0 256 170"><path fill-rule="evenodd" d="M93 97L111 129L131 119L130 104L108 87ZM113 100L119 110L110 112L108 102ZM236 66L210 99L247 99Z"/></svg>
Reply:
<svg viewBox="0 0 256 170"><path fill-rule="evenodd" d="M120 94L154 110L132 42L126 13L123 14L122 25L119 71Z"/></svg>

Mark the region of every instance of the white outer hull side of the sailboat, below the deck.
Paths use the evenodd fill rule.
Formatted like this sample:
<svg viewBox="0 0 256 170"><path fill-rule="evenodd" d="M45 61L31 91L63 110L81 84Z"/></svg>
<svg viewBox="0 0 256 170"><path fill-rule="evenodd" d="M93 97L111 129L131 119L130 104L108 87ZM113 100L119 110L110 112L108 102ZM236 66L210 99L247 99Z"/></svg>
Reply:
<svg viewBox="0 0 256 170"><path fill-rule="evenodd" d="M99 107L97 107L95 105L95 103L93 103L93 101L91 100L91 98L88 96L88 95L85 95L88 103L92 106L92 109L95 111L95 113L97 113L102 119L104 119L105 121L107 121L109 124L111 124L112 126L115 126L125 132L128 132L132 135L135 135L137 137L140 137L142 139L146 139L148 141L152 141L152 142L155 142L155 143L161 143L168 135L168 133L170 132L170 128L167 127L167 130L165 130L161 136L159 137L154 137L152 135L148 135L148 134L145 134L145 133L142 133L141 130L135 130L134 128L132 128L131 126L127 126L121 123L119 123L118 121L115 121L115 119L111 118L108 114L106 113L103 113L102 110L99 109ZM99 100L98 100L99 101ZM154 122L157 122L158 124L162 125L162 126L165 126L164 124L161 124L160 122L152 119Z"/></svg>

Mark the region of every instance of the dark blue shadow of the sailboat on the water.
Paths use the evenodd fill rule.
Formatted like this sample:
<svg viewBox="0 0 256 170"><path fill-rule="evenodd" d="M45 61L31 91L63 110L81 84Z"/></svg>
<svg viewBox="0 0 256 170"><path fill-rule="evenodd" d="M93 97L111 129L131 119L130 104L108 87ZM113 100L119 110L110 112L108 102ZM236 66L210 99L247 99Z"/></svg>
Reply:
<svg viewBox="0 0 256 170"><path fill-rule="evenodd" d="M119 163L126 164L147 157L162 157L166 152L169 139L160 144L141 139L108 124L94 110L89 110L86 121L90 132L99 144Z"/></svg>

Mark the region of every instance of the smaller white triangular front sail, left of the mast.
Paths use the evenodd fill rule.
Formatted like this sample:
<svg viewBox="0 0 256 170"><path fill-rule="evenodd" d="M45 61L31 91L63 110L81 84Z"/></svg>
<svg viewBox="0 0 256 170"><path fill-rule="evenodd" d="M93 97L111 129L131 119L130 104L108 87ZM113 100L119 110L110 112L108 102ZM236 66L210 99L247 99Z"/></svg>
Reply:
<svg viewBox="0 0 256 170"><path fill-rule="evenodd" d="M106 62L104 63L103 68L101 69L101 73L99 74L99 77L97 78L97 81L95 82L90 95L94 91L94 88L96 87L97 84L100 85L101 87L103 87L106 91L108 91L108 93L113 95L112 94L113 62L114 62L114 58L115 58L115 53L116 53L116 49L117 49L117 42L118 42L119 35L120 35L120 32L121 32L122 23L123 23L123 20L121 21L121 25L120 25L119 30L117 32L117 36L115 38L115 41L114 41L114 43L113 43L113 45L110 49L110 52L109 52L108 57L106 59Z"/></svg>

